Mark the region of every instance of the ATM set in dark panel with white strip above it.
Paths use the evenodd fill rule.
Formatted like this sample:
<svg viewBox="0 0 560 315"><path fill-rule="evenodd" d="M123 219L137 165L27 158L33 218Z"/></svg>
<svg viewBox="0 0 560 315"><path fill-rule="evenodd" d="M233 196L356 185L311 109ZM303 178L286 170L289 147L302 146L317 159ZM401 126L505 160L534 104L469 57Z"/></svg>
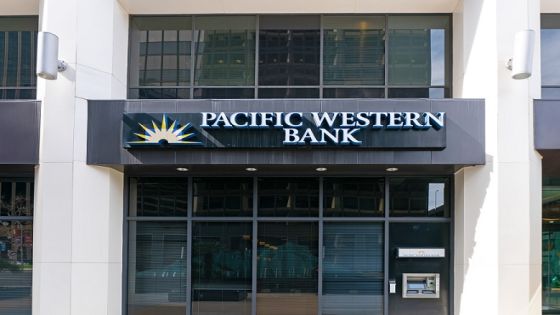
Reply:
<svg viewBox="0 0 560 315"><path fill-rule="evenodd" d="M389 239L389 314L449 314L448 225L396 223Z"/></svg>

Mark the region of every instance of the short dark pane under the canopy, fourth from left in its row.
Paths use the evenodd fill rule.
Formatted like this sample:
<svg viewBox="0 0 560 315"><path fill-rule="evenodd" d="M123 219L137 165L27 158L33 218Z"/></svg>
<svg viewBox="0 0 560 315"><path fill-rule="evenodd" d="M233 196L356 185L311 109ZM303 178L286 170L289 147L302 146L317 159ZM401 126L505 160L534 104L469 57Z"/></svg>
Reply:
<svg viewBox="0 0 560 315"><path fill-rule="evenodd" d="M323 198L326 217L383 216L384 181L382 178L326 178Z"/></svg>

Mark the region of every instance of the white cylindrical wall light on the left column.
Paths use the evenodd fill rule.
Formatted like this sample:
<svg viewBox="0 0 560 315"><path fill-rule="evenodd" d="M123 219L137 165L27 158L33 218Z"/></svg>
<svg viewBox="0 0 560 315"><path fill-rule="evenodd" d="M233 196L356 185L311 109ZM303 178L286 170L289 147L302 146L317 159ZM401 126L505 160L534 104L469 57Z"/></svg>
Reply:
<svg viewBox="0 0 560 315"><path fill-rule="evenodd" d="M37 76L56 80L58 72L66 70L66 62L58 60L58 36L49 32L37 35Z"/></svg>

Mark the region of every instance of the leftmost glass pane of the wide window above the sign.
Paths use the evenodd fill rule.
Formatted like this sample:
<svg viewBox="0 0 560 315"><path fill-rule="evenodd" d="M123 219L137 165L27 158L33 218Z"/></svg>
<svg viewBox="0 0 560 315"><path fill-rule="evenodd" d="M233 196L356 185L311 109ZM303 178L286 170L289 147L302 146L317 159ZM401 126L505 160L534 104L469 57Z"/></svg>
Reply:
<svg viewBox="0 0 560 315"><path fill-rule="evenodd" d="M191 23L190 17L132 17L131 87L190 84Z"/></svg>

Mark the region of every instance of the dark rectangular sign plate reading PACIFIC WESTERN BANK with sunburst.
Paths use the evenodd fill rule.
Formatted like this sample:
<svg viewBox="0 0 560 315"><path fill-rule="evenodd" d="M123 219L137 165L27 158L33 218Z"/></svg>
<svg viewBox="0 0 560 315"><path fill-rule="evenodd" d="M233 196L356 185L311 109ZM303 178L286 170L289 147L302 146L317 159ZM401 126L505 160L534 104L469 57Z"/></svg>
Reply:
<svg viewBox="0 0 560 315"><path fill-rule="evenodd" d="M123 147L442 150L444 112L125 113Z"/></svg>

